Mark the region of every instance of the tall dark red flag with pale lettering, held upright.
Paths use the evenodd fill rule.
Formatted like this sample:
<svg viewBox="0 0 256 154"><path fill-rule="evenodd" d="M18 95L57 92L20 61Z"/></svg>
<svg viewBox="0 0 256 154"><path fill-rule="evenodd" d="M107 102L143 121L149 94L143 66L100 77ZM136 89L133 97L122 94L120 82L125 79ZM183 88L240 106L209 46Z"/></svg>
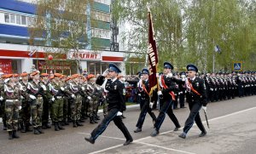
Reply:
<svg viewBox="0 0 256 154"><path fill-rule="evenodd" d="M154 89L158 87L158 80L156 77L158 56L156 43L154 39L154 27L152 23L151 13L148 9L148 71L149 71L149 94L152 94Z"/></svg>

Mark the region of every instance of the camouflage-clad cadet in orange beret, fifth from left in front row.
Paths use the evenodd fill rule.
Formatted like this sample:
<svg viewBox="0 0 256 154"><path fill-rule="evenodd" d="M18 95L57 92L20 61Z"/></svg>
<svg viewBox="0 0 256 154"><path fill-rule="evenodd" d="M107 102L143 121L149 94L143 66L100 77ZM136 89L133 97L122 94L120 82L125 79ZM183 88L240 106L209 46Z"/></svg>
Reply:
<svg viewBox="0 0 256 154"><path fill-rule="evenodd" d="M64 90L64 84L61 82L61 74L55 73L52 81L49 83L49 91L52 94L52 98L50 99L52 122L55 125L55 131L65 129L61 126L63 119Z"/></svg>

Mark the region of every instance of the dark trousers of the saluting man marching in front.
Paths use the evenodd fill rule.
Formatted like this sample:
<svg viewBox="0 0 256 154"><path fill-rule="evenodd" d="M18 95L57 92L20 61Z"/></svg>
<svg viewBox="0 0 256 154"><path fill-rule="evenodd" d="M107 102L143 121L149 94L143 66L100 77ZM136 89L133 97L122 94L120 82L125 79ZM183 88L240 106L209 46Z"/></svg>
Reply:
<svg viewBox="0 0 256 154"><path fill-rule="evenodd" d="M118 109L113 108L108 111L108 115L104 117L102 123L100 123L92 132L91 138L96 140L99 135L101 135L105 129L108 127L108 124L113 120L113 123L121 130L121 132L125 135L126 140L131 140L131 134L128 129L125 127L125 124L122 122L121 117L116 116L118 113Z"/></svg>

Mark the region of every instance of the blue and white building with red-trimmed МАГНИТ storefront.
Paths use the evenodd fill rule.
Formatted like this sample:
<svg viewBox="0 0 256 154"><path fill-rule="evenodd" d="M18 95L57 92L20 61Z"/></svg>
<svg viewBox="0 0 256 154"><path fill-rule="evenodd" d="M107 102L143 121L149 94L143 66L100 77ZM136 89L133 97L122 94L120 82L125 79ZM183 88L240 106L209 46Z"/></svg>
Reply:
<svg viewBox="0 0 256 154"><path fill-rule="evenodd" d="M123 52L111 52L111 0L95 0L90 7L91 19L96 20L96 27L87 29L89 43L98 44L101 50L94 50L91 44L79 51L80 66L83 70L92 74L102 73L110 62L117 64L122 71L125 71ZM41 71L57 71L67 75L78 71L75 63L65 62L75 59L71 50L63 55L58 64L51 64L47 60L44 49L33 51L29 45L28 27L36 18L37 5L32 0L1 0L0 3L0 67L6 73L30 72L31 66L35 65ZM46 62L48 61L48 62Z"/></svg>

